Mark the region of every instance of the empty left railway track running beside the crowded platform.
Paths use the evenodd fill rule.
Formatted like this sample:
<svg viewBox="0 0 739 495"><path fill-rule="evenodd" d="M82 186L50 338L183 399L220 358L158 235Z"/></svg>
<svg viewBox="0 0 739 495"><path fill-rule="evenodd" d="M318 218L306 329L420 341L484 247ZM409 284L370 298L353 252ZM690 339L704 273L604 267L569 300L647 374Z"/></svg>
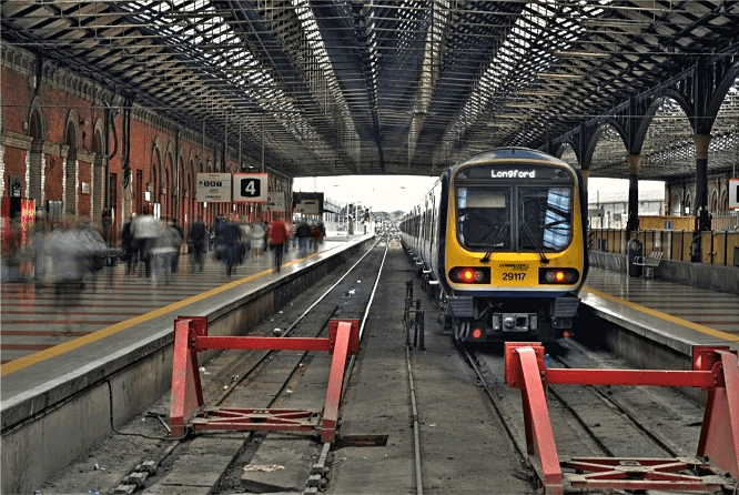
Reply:
<svg viewBox="0 0 739 495"><path fill-rule="evenodd" d="M335 270L249 335L325 336L331 319L364 315L385 251L386 242L376 243L358 260L347 262L343 273ZM321 411L325 386L321 395L320 386L303 381L327 375L327 370L325 358L308 352L231 351L201 364L200 374L207 406L271 408L301 402ZM351 371L350 365L345 382ZM174 438L168 425L170 398L166 394L145 415L115 430L100 448L39 493L242 493L244 467L269 435L198 433ZM315 444L315 438L310 441ZM316 451L316 461L322 451Z"/></svg>

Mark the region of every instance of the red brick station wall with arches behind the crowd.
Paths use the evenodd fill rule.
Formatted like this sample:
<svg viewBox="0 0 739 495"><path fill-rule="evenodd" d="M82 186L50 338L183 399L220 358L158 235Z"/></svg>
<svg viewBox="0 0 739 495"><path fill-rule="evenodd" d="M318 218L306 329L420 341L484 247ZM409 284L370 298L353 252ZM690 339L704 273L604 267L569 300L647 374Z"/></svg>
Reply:
<svg viewBox="0 0 739 495"><path fill-rule="evenodd" d="M110 139L109 152L115 154L108 160L111 174L117 178L117 191L111 193L115 199L114 232L120 232L123 222L132 213L142 213L140 205L153 210L153 202L162 201L162 215L176 218L183 224L202 216L212 225L217 215L249 215L251 219L269 218L261 211L261 205L239 203L234 211L231 204L211 203L206 208L195 201L195 178L201 170L199 161L203 161L203 171L207 163L214 163L211 170L221 171L223 144L205 141L203 150L202 129L186 129L168 121L154 111L135 107L132 114L130 137L131 183L124 190L122 171L123 163L123 127L124 118L121 109L123 99L110 93L108 88L97 85L72 73L64 68L43 65L37 72L37 59L31 52L3 43L2 47L2 141L0 150L0 195L8 192L8 176L24 178L23 195L37 200L38 206L47 205L47 201L63 201L67 220L90 218L101 224L105 201L105 156L99 154L94 142L95 130L104 128L105 102L112 101L118 109L114 128L118 148L114 150ZM41 73L37 80L37 73ZM31 113L36 109L40 113L39 124L33 125ZM37 139L33 139L36 132ZM176 134L180 139L176 139ZM158 149L161 169L154 184L153 173L154 150ZM226 171L237 171L237 152L229 150ZM185 176L175 178L183 163ZM97 165L94 165L97 163ZM97 168L97 170L95 170ZM142 184L135 184L136 172L141 171ZM82 184L89 185L89 192L82 191ZM155 189L151 202L138 195L146 191L146 184ZM162 193L163 184L166 190ZM190 189L186 190L186 185ZM271 189L288 190L290 181L271 178ZM176 196L174 196L176 188ZM143 195L143 194L142 194Z"/></svg>

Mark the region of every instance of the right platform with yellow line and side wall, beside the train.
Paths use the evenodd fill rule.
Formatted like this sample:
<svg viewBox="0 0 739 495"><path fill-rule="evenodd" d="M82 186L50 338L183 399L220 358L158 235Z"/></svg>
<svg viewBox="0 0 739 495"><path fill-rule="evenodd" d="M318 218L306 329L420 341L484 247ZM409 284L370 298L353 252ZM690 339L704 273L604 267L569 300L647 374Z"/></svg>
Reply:
<svg viewBox="0 0 739 495"><path fill-rule="evenodd" d="M591 267L580 297L579 333L608 341L637 367L690 370L697 345L739 350L739 294ZM629 332L595 326L591 316Z"/></svg>

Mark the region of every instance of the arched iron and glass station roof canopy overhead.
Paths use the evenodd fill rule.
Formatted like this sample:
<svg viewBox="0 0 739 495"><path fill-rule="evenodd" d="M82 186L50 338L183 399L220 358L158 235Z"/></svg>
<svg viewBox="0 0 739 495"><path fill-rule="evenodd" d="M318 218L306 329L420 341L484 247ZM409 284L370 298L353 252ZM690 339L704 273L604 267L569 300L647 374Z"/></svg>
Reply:
<svg viewBox="0 0 739 495"><path fill-rule="evenodd" d="M2 0L2 39L232 155L292 176L437 175L499 145L543 148L694 68L739 53L737 1ZM739 89L711 170L739 161ZM666 99L644 179L689 176ZM625 176L606 130L591 176Z"/></svg>

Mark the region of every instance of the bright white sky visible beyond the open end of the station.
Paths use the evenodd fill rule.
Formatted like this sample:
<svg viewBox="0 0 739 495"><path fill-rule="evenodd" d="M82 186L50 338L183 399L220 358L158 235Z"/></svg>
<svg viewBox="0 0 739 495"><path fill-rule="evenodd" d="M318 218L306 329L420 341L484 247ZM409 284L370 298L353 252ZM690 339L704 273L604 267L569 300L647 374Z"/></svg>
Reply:
<svg viewBox="0 0 739 495"><path fill-rule="evenodd" d="M438 178L418 175L340 175L296 178L294 190L323 192L324 198L340 205L360 202L373 211L409 211L421 202ZM664 191L659 181L640 181L639 195L646 191ZM589 202L624 201L628 199L628 179L591 178L588 186Z"/></svg>

